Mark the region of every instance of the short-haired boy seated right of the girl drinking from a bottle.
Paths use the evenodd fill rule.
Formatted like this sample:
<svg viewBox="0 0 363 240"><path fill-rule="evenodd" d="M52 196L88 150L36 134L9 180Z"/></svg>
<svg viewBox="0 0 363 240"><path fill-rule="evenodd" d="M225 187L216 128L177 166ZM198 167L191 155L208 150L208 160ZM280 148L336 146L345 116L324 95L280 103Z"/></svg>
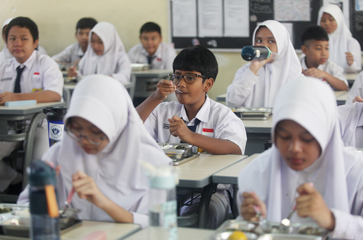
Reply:
<svg viewBox="0 0 363 240"><path fill-rule="evenodd" d="M301 50L305 54L300 59L305 76L321 78L335 90L348 90L344 69L329 61L329 37L321 26L311 26L301 36Z"/></svg>

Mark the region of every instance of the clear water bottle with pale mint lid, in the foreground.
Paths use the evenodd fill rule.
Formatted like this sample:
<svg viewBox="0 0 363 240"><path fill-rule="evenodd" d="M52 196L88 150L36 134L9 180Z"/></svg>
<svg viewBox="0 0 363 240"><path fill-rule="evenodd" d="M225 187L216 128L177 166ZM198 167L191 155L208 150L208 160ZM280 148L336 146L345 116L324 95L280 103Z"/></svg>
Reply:
<svg viewBox="0 0 363 240"><path fill-rule="evenodd" d="M159 167L150 176L150 240L178 239L175 179L171 166Z"/></svg>

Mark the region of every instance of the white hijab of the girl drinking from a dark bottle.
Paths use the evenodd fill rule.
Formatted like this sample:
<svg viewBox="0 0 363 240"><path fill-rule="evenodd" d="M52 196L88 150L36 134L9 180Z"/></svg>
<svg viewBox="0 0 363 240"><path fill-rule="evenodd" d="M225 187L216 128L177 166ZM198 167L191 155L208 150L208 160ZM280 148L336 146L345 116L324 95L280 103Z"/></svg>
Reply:
<svg viewBox="0 0 363 240"><path fill-rule="evenodd" d="M304 76L301 73L301 64L291 43L289 32L278 21L267 20L257 26L253 32L252 44L255 42L257 29L262 25L266 26L273 34L277 44L277 53L281 55L281 59L280 61L275 60L272 63L268 63L260 69L260 71L264 71L265 81L257 81L254 89L262 89L261 94L264 96L263 106L272 107L278 91L287 81L297 76L302 78ZM260 71L259 74L261 74ZM261 95L258 94L258 97L261 97ZM247 98L245 106L252 106L252 100L252 98Z"/></svg>

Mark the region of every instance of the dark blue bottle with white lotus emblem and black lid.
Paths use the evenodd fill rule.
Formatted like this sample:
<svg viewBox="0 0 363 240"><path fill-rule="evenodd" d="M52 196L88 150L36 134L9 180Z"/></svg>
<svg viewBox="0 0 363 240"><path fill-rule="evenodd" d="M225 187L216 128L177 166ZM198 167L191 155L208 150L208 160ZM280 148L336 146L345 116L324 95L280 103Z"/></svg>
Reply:
<svg viewBox="0 0 363 240"><path fill-rule="evenodd" d="M54 143L62 141L64 136L63 118L67 113L67 107L44 107L48 122L49 147Z"/></svg>

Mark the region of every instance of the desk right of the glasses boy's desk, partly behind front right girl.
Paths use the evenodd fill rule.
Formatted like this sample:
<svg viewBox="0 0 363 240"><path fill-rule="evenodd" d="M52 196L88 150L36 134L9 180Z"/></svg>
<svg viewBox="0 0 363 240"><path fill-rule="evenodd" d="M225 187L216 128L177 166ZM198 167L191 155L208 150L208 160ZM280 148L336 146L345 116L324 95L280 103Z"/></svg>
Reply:
<svg viewBox="0 0 363 240"><path fill-rule="evenodd" d="M253 154L247 158L242 159L242 161L237 162L222 171L213 174L212 181L213 183L222 183L222 184L232 184L233 185L233 206L232 206L232 214L233 218L238 216L238 208L237 208L237 192L238 192L238 174L240 171L247 166L249 162L255 159L259 153Z"/></svg>

